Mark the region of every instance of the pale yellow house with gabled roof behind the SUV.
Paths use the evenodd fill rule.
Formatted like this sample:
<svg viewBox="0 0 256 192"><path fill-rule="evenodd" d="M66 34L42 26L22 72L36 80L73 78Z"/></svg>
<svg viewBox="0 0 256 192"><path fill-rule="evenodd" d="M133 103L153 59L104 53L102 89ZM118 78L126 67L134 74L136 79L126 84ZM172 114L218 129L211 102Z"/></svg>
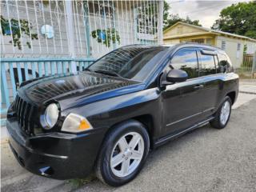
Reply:
<svg viewBox="0 0 256 192"><path fill-rule="evenodd" d="M256 39L238 34L230 34L220 30L211 30L202 26L194 26L184 22L177 22L163 31L164 44L180 42L197 42L217 46L226 51L234 68L242 64L243 54L254 54Z"/></svg>

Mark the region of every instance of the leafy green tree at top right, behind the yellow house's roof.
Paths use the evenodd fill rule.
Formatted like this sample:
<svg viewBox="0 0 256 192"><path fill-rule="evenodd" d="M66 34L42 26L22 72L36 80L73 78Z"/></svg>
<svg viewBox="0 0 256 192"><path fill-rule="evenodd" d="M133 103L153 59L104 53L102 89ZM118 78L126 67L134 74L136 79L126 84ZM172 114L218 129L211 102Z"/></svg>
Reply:
<svg viewBox="0 0 256 192"><path fill-rule="evenodd" d="M256 1L238 2L224 8L212 29L256 38Z"/></svg>

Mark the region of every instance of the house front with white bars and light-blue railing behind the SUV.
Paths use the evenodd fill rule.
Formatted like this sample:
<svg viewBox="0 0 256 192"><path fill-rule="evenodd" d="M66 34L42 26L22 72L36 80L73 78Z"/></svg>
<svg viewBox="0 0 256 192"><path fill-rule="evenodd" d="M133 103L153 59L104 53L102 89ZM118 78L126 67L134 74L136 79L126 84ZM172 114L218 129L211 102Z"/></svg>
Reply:
<svg viewBox="0 0 256 192"><path fill-rule="evenodd" d="M163 0L0 1L1 114L31 78L84 70L130 44L162 44Z"/></svg>

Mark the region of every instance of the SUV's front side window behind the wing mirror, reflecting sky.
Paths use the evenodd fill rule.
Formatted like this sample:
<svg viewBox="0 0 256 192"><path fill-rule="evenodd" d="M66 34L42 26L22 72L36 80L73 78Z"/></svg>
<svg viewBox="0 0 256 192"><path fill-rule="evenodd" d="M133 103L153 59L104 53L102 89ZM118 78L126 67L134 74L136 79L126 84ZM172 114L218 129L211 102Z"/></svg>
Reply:
<svg viewBox="0 0 256 192"><path fill-rule="evenodd" d="M174 55L170 64L177 70L185 70L188 78L198 78L198 56L195 50L182 50Z"/></svg>

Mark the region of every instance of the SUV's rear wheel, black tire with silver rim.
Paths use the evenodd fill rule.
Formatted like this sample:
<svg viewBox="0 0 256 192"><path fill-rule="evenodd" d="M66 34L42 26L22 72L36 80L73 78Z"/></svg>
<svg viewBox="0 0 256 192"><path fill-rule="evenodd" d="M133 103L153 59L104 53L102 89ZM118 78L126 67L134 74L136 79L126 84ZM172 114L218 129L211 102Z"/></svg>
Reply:
<svg viewBox="0 0 256 192"><path fill-rule="evenodd" d="M215 118L210 121L210 125L216 129L223 129L230 120L232 102L230 97L226 96L222 105L219 106Z"/></svg>

